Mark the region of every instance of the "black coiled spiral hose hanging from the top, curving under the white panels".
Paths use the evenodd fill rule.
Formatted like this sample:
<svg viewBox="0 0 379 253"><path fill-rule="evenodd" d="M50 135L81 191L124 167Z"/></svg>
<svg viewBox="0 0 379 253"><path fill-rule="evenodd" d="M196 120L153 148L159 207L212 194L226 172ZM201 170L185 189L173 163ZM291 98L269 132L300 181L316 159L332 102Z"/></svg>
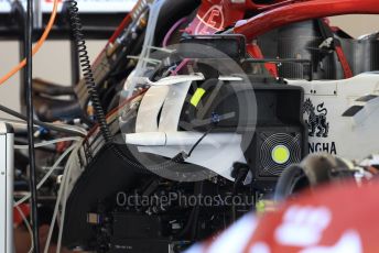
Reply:
<svg viewBox="0 0 379 253"><path fill-rule="evenodd" d="M161 1L159 3L158 10L160 10L160 7L162 6ZM99 124L100 133L102 138L106 141L106 145L108 145L112 152L121 158L123 162L126 162L129 166L138 169L142 169L142 172L145 172L145 169L149 170L161 170L161 169L167 169L174 166L177 166L178 164L183 163L186 158L186 154L184 152L178 153L176 156L171 158L170 161L154 165L154 166L149 166L145 167L141 165L140 163L137 163L132 161L131 158L127 157L126 154L121 152L121 150L113 143L112 134L109 130L109 125L107 123L106 114L104 112L104 109L100 103L100 98L98 95L98 91L96 89L96 84L95 84L95 78L93 74L93 69L90 67L90 61L87 52L87 46L86 46L86 41L84 38L83 34L83 25L82 25L82 20L78 14L78 7L77 7L77 1L76 0L67 0L68 4L68 15L69 15L69 22L71 22L71 28L73 32L73 37L75 40L76 46L77 46L77 52L78 52L78 57L79 57L79 63L83 72L83 76L85 79L85 84L88 89L89 98L93 102L93 107L95 109L95 116ZM156 13L153 15L158 15Z"/></svg>

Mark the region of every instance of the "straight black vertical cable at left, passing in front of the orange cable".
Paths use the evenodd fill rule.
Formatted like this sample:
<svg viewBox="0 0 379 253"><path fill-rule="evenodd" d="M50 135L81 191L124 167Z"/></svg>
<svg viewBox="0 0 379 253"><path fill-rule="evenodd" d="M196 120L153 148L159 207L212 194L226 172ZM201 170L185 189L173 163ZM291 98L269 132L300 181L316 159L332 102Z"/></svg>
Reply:
<svg viewBox="0 0 379 253"><path fill-rule="evenodd" d="M28 0L26 8L26 25L25 25L25 88L26 88L26 123L28 123L28 140L29 140L29 177L31 191L31 218L33 222L33 243L34 253L40 253L40 233L39 233L39 213L37 213L37 191L36 191L36 168L35 168L35 152L34 152L34 117L33 117L33 81L32 81L32 35L33 35L33 0Z"/></svg>

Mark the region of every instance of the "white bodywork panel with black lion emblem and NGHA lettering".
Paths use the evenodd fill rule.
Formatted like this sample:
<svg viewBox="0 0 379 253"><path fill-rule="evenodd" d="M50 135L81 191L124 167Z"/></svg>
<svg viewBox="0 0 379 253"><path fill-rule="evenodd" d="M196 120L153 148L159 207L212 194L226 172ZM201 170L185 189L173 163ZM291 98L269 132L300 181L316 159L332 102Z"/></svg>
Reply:
<svg viewBox="0 0 379 253"><path fill-rule="evenodd" d="M378 136L377 99L364 103L364 109L355 117L343 117L346 110L357 105L357 98L378 94L378 81L379 74L373 73L337 81L312 81L313 87L320 92L305 95L305 99L310 99L313 106L312 117L310 112L304 113L304 120L312 121L308 130L314 130L314 136L308 139L310 153L327 152L359 161L379 152L378 142L372 141ZM289 80L289 84L303 87L305 82ZM328 85L331 88L336 86L336 96L331 96L331 88L326 87ZM317 133L322 134L317 136Z"/></svg>

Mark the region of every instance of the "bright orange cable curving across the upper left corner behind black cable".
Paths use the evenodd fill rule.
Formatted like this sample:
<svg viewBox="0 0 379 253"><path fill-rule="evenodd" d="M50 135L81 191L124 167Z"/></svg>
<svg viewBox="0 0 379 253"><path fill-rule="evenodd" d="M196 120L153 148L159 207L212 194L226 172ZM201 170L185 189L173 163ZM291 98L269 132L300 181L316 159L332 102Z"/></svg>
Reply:
<svg viewBox="0 0 379 253"><path fill-rule="evenodd" d="M33 47L32 55L35 55L35 53L39 52L39 50L41 48L43 43L46 41L46 38L47 38L52 28L53 28L53 24L55 22L57 9L58 9L58 0L54 0L53 11L52 11L52 14L50 15L48 23L47 23L45 31L43 32L42 36L40 37L39 42ZM15 66L12 70L10 70L3 77L1 77L0 85L4 84L14 74L20 72L25 65L26 65L26 58L24 58L22 62L20 62L18 66Z"/></svg>

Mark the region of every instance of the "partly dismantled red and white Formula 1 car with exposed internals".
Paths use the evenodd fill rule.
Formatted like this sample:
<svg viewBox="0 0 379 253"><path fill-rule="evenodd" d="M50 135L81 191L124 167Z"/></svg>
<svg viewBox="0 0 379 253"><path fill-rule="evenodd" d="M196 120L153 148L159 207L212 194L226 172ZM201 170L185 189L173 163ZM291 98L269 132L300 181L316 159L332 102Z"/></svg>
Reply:
<svg viewBox="0 0 379 253"><path fill-rule="evenodd" d="M378 35L355 40L326 19L378 14L375 0L139 0L93 65L69 11L84 78L33 89L39 189L56 200L40 204L47 248L182 252L293 194L297 177L281 178L308 153L378 151ZM337 164L331 178L357 176Z"/></svg>

